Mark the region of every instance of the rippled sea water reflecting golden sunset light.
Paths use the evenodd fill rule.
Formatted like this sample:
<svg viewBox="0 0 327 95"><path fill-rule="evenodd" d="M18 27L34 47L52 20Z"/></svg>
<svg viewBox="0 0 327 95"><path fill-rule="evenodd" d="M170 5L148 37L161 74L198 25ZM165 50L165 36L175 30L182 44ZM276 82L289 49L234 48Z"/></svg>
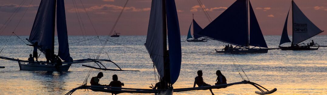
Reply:
<svg viewBox="0 0 327 95"><path fill-rule="evenodd" d="M19 37L27 43L24 39L28 38L28 36ZM69 43L71 43L69 47L72 58L77 60L96 57L102 48L106 36L94 37L96 36L69 36ZM186 36L182 36L181 38L181 41L184 41ZM85 39L90 40L82 41ZM265 36L265 39L269 48L278 48L280 36ZM321 46L327 46L327 36L315 36L311 39ZM311 39L306 42L310 42ZM104 77L100 79L100 84L109 84L112 81L112 75L116 74L118 75L118 80L125 84L124 88L149 88L151 84L154 85L156 75L152 61L146 52L142 52L146 51L144 46L145 40L146 36L111 37L110 41L126 47L112 42L108 42L105 47L109 58L123 70L139 70L140 72L93 70L89 80L91 77L96 76L97 73L103 72ZM0 56L27 60L32 47L27 46L23 41L16 36L0 36L0 48L3 48ZM211 85L215 84L216 70L221 70L222 74L227 78L227 83L242 81L230 55L215 53L215 49L223 48L221 42L215 40L209 40L208 42L181 42L181 45L183 54L181 72L179 79L174 84L174 88L193 87L194 78L197 76L196 72L198 70L203 71L204 81ZM55 52L57 51L58 46L55 48ZM274 95L327 94L326 52L327 47L320 47L318 50L269 50L268 53L234 54L232 56L242 66L250 81L258 83L269 90L277 88L277 91L273 93ZM103 52L100 59L109 59L107 54ZM44 61L44 56L41 55L39 60ZM68 72L41 72L20 71L17 62L2 59L0 61L0 66L6 67L0 68L1 94L65 94L82 84L88 74L90 68L81 65L93 64L73 64ZM118 69L112 63L104 63L104 65L107 68ZM213 89L213 92L219 95L253 95L255 91L258 91L258 89L249 84ZM74 94L101 95L110 93L77 90ZM211 93L209 90L198 90L175 92L174 94L209 95Z"/></svg>

